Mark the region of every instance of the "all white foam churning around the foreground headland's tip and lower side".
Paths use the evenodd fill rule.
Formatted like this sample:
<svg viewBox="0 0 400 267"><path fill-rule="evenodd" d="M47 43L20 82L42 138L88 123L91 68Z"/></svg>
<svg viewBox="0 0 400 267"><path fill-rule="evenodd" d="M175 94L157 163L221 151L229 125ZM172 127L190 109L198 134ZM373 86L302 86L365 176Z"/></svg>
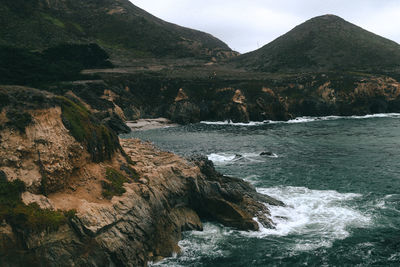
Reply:
<svg viewBox="0 0 400 267"><path fill-rule="evenodd" d="M177 259L167 258L150 266L181 267L195 264L205 257L229 256L224 244L235 235L269 239L290 236L282 246L296 253L331 247L335 240L350 236L351 228L372 225L370 217L350 206L352 200L361 197L360 194L305 187L260 188L258 191L287 204L286 207L269 206L276 229L266 229L260 224L259 231L247 232L205 223L204 231L185 233L185 238L179 242L183 253Z"/></svg>

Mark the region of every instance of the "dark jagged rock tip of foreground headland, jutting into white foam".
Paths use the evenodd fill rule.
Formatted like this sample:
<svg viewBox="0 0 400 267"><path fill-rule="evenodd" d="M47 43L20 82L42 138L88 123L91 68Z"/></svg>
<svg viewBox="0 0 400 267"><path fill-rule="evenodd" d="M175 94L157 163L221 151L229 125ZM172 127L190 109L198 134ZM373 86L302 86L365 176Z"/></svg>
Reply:
<svg viewBox="0 0 400 267"><path fill-rule="evenodd" d="M196 193L193 194L195 209L200 214L244 230L258 230L254 217L264 227L273 227L269 211L262 203L283 206L282 202L257 193L253 186L241 179L221 175L206 157L197 156L189 160L207 177L207 180L195 184Z"/></svg>

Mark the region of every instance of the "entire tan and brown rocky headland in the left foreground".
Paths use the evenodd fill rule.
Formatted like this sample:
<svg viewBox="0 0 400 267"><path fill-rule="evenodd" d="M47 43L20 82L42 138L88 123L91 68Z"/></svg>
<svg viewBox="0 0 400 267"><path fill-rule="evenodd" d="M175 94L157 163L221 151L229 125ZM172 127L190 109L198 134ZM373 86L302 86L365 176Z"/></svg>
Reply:
<svg viewBox="0 0 400 267"><path fill-rule="evenodd" d="M0 187L21 180L26 188L13 196L19 209L69 215L50 227L7 204L8 213L23 218L0 213L4 266L145 266L179 253L182 231L201 230L202 220L241 230L258 230L259 223L273 227L266 204L283 203L219 174L206 158L186 160L129 139L120 140L110 158L95 160L88 143L74 137L76 129L65 126L66 117L74 120L59 98L6 89L14 102L0 106ZM25 107L31 120L15 128L7 114L27 92L46 104Z"/></svg>

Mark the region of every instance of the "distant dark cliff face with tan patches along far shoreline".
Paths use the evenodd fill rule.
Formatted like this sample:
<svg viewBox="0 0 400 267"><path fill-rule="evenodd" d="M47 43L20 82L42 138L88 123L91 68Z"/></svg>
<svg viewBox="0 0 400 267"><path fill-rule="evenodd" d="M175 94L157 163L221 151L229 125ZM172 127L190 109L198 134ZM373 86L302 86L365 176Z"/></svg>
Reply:
<svg viewBox="0 0 400 267"><path fill-rule="evenodd" d="M199 83L178 83L185 99L165 101L169 112L160 110L158 116L193 123L400 112L400 83L388 76L330 73Z"/></svg>

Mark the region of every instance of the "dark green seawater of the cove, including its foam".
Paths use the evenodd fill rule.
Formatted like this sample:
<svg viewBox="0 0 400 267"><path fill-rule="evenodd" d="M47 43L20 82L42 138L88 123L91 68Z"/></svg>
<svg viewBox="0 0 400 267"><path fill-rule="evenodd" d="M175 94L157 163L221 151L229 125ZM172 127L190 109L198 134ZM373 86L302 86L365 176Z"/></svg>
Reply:
<svg viewBox="0 0 400 267"><path fill-rule="evenodd" d="M128 136L208 155L223 174L288 204L271 207L276 229L205 223L203 232L185 233L182 255L155 266L400 266L398 114L203 123Z"/></svg>

